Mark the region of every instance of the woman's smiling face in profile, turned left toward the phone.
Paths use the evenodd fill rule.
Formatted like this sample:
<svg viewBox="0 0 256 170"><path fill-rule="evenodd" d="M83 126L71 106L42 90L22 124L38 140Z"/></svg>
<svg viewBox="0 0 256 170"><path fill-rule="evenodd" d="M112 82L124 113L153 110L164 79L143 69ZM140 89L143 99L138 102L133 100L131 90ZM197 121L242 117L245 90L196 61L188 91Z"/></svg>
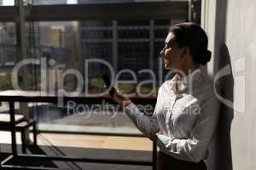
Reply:
<svg viewBox="0 0 256 170"><path fill-rule="evenodd" d="M164 55L165 69L180 69L183 65L183 48L177 47L175 35L172 32L167 35L165 47L160 54Z"/></svg>

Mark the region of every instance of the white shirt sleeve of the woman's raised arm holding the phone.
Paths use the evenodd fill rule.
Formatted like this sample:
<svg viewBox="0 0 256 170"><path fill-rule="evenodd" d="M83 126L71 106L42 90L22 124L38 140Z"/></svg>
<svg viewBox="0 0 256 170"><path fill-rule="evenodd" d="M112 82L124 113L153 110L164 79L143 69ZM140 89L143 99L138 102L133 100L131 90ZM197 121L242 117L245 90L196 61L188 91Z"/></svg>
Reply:
<svg viewBox="0 0 256 170"><path fill-rule="evenodd" d="M160 93L160 91L159 91ZM149 139L156 139L155 133L159 132L159 123L157 120L156 112L158 108L159 99L154 106L154 113L152 116L144 115L143 112L137 109L133 103L125 107L125 114L130 117L135 126Z"/></svg>

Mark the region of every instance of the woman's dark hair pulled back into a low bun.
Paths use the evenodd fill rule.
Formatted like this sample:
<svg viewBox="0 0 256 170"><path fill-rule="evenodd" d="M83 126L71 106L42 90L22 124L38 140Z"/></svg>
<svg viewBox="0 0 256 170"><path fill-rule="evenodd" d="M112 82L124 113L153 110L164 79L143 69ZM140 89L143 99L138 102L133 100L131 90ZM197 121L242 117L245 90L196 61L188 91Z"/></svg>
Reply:
<svg viewBox="0 0 256 170"><path fill-rule="evenodd" d="M206 65L211 59L212 53L207 50L207 33L201 26L192 22L184 22L171 26L169 32L174 34L179 48L189 48L190 54L196 63Z"/></svg>

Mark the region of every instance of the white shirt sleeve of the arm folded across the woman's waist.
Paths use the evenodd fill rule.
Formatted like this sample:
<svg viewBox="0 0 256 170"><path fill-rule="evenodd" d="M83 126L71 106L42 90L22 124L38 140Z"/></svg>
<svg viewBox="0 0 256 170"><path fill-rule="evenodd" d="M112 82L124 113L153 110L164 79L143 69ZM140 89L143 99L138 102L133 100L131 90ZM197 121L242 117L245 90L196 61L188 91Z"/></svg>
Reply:
<svg viewBox="0 0 256 170"><path fill-rule="evenodd" d="M216 98L212 98L204 105L188 139L175 139L157 134L157 145L160 150L184 161L203 160L218 124L218 106Z"/></svg>

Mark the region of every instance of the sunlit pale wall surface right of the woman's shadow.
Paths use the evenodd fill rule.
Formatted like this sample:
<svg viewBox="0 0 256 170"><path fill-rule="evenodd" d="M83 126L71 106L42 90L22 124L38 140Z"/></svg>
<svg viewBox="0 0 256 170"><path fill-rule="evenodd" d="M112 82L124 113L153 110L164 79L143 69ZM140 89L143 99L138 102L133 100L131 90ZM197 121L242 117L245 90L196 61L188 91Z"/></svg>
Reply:
<svg viewBox="0 0 256 170"><path fill-rule="evenodd" d="M231 128L233 165L237 170L256 169L255 16L255 0L233 0L228 3L225 42L230 50L232 60L245 59L245 111L244 113L234 112ZM239 98L241 98L239 94L235 95L235 105ZM239 104L240 102L237 102L237 105Z"/></svg>

